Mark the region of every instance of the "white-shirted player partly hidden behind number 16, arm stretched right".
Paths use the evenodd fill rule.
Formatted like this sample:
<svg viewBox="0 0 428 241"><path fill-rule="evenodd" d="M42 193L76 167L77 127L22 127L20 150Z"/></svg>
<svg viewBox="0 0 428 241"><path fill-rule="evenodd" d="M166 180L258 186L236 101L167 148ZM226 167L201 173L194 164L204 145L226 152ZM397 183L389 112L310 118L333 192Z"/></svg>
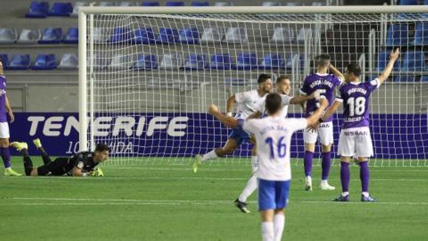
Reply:
<svg viewBox="0 0 428 241"><path fill-rule="evenodd" d="M301 105L303 102L318 98L320 96L318 91L310 95L302 95L302 96L289 96L291 90L291 81L287 75L281 75L276 79L276 92L280 94L282 102L281 102L281 113L280 116L286 118L288 112L288 105ZM266 101L266 99L265 99ZM250 118L260 118L265 113L265 101L261 101L257 107L257 111L249 116ZM256 151L254 152L254 154ZM247 208L247 199L257 188L257 156L251 157L251 176L245 186L244 190L242 190L239 197L234 201L234 204L239 210L244 213L249 213L250 210Z"/></svg>

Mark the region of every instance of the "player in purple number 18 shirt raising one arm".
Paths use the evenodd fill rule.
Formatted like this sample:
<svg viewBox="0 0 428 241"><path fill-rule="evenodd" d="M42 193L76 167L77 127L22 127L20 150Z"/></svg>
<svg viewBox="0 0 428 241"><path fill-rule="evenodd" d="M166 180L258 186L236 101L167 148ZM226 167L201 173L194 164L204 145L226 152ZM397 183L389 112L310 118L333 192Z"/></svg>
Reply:
<svg viewBox="0 0 428 241"><path fill-rule="evenodd" d="M374 202L375 198L369 194L369 167L368 159L373 156L373 144L369 129L369 102L370 95L391 74L395 60L400 55L397 48L390 56L390 61L385 70L377 78L370 82L361 82L359 75L361 68L356 63L349 64L345 72L346 84L339 88L333 105L325 111L321 121L336 112L343 103L343 125L340 130L338 153L340 155L340 181L342 194L334 201L349 201L349 163L351 158L357 159L360 166L361 202Z"/></svg>

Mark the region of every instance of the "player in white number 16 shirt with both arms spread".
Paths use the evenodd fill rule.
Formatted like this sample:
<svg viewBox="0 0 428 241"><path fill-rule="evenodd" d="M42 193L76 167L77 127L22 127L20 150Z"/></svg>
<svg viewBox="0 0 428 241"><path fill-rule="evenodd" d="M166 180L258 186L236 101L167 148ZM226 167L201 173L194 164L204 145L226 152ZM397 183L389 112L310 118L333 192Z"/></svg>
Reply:
<svg viewBox="0 0 428 241"><path fill-rule="evenodd" d="M268 94L266 97L268 117L243 122L220 113L217 106L211 105L209 108L209 112L223 124L242 128L256 136L259 157L258 206L262 219L263 241L280 241L284 231L284 208L287 205L291 180L291 136L295 131L316 123L322 111L328 106L328 101L322 97L320 108L312 115L307 118L287 119L281 116L281 102L279 94Z"/></svg>

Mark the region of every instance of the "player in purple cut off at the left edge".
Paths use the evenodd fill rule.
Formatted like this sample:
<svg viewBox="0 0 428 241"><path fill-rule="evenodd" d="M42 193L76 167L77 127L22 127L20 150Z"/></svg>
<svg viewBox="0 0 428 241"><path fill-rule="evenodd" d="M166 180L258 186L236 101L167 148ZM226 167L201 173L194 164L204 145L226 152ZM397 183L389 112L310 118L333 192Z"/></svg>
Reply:
<svg viewBox="0 0 428 241"><path fill-rule="evenodd" d="M9 125L6 112L9 114L10 123L14 122L15 116L10 108L9 98L6 95L6 76L3 73L3 60L0 58L0 155L4 164L5 176L22 176L14 171L10 165L9 150Z"/></svg>

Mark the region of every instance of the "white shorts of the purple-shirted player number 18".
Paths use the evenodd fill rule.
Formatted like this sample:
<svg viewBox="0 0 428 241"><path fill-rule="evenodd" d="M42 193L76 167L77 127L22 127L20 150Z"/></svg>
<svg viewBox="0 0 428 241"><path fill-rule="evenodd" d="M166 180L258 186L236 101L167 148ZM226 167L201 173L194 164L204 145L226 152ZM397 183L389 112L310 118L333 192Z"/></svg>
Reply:
<svg viewBox="0 0 428 241"><path fill-rule="evenodd" d="M372 137L368 127L357 127L340 131L338 153L349 157L373 156Z"/></svg>

